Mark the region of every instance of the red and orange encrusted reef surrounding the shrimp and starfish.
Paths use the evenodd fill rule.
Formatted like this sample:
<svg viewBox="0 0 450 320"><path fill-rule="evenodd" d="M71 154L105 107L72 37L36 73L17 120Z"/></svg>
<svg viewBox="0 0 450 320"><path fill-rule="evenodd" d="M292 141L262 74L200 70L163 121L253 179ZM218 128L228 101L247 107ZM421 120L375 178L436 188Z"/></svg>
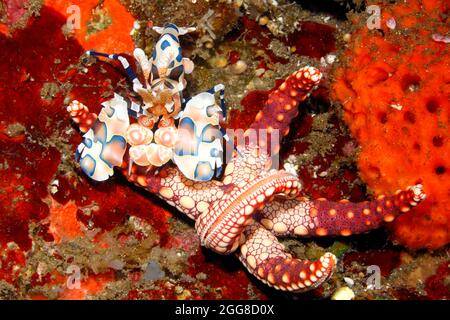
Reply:
<svg viewBox="0 0 450 320"><path fill-rule="evenodd" d="M448 299L448 15L444 0L1 0L0 298ZM354 219L337 236L279 237L300 259L337 258L329 279L295 293L202 246L162 192L139 188L147 182L118 172L91 180L67 106L78 100L98 114L114 93L137 95L119 61L86 51L121 54L141 70L133 50L151 56L152 27L169 23L196 27L179 38L195 65L184 90L224 84L224 129L255 117L272 127L275 114L260 121L261 110L279 107L268 101L283 81L305 66L320 72L283 123L279 149L302 197L376 201L421 185L426 199L368 233L355 234Z"/></svg>

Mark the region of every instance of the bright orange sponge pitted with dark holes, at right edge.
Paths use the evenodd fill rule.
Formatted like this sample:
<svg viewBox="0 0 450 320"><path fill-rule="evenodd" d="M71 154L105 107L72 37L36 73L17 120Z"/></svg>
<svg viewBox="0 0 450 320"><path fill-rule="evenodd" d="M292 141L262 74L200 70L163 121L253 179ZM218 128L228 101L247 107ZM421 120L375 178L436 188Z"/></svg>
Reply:
<svg viewBox="0 0 450 320"><path fill-rule="evenodd" d="M381 28L366 17L335 70L332 97L361 145L361 177L376 193L421 182L427 199L393 225L411 248L450 242L449 3L381 6Z"/></svg>

